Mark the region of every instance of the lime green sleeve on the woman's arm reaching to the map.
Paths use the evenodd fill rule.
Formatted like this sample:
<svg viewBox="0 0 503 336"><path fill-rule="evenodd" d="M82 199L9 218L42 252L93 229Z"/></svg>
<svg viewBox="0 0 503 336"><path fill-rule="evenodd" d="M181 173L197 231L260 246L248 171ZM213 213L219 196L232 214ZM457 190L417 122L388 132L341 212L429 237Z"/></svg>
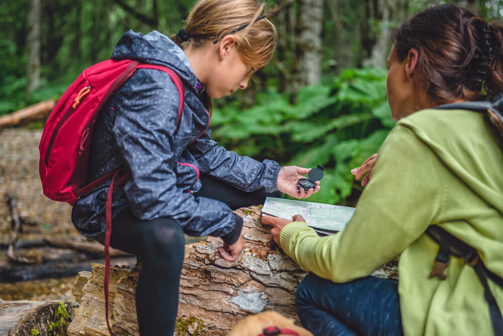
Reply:
<svg viewBox="0 0 503 336"><path fill-rule="evenodd" d="M281 247L303 269L333 282L370 275L420 237L441 209L435 161L424 142L397 124L344 231L319 237L305 223L290 223L281 230Z"/></svg>

